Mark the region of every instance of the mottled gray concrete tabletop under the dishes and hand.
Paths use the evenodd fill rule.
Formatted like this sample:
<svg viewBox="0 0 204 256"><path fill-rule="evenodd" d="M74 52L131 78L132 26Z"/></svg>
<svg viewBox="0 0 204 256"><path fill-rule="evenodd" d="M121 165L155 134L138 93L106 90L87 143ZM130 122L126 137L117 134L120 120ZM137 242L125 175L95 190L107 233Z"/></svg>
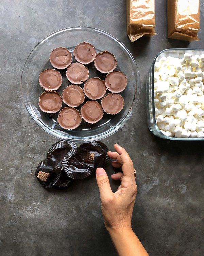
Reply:
<svg viewBox="0 0 204 256"><path fill-rule="evenodd" d="M166 1L156 0L158 35L131 43L124 0L0 2L0 255L117 255L103 224L94 176L67 191L48 191L30 175L57 139L27 113L20 93L21 71L41 39L71 26L113 34L130 49L139 67L142 87L137 109L122 130L104 140L111 150L116 142L125 147L137 170L133 230L151 256L204 254L204 143L153 136L145 99L147 70L158 52L204 48L203 12L201 1L199 42L168 40ZM111 166L107 173L114 173ZM118 183L111 181L111 186L116 190Z"/></svg>

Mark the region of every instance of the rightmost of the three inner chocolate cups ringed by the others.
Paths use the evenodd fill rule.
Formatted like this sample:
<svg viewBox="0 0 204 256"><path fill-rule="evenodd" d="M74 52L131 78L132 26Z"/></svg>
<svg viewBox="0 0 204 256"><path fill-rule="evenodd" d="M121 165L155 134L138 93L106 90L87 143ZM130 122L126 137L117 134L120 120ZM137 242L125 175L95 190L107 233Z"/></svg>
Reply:
<svg viewBox="0 0 204 256"><path fill-rule="evenodd" d="M106 92L106 86L99 77L90 78L84 84L84 93L91 100L101 99Z"/></svg>

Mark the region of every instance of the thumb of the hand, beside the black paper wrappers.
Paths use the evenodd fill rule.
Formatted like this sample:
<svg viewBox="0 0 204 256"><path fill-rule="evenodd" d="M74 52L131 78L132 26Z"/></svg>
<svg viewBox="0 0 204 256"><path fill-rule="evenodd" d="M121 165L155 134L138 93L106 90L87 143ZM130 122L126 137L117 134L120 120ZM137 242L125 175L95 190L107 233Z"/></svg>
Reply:
<svg viewBox="0 0 204 256"><path fill-rule="evenodd" d="M103 168L98 168L96 170L96 180L99 186L101 201L111 199L114 197L108 176Z"/></svg>

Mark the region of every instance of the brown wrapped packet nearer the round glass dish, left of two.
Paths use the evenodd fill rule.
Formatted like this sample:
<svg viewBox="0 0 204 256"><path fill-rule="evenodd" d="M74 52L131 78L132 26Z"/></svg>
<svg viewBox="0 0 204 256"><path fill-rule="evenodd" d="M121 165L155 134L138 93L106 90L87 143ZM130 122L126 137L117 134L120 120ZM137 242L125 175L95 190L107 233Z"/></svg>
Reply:
<svg viewBox="0 0 204 256"><path fill-rule="evenodd" d="M134 42L143 35L153 37L155 33L155 1L127 0L127 35Z"/></svg>

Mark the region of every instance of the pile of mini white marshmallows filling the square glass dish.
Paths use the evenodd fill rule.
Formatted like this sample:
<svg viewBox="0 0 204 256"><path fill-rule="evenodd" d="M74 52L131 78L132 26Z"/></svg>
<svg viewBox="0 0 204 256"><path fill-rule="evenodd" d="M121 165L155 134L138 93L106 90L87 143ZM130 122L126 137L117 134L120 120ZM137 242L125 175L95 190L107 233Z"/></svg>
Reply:
<svg viewBox="0 0 204 256"><path fill-rule="evenodd" d="M161 56L157 59L154 66L155 116L163 134L176 138L204 137L203 82L204 54L185 53L184 58Z"/></svg>

